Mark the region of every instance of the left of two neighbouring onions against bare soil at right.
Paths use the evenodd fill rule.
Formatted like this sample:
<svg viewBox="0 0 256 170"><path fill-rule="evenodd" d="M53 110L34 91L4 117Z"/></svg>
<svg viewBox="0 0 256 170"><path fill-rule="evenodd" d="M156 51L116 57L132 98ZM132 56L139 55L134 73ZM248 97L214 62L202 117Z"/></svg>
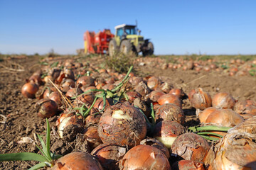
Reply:
<svg viewBox="0 0 256 170"><path fill-rule="evenodd" d="M212 104L210 95L201 88L196 89L195 93L193 93L190 97L191 105L196 109L203 110L210 107Z"/></svg>

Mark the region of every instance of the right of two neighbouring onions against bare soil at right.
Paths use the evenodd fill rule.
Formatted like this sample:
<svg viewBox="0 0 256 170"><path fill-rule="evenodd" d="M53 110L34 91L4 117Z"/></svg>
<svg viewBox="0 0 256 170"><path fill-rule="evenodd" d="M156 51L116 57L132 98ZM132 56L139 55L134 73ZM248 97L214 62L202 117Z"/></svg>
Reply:
<svg viewBox="0 0 256 170"><path fill-rule="evenodd" d="M215 108L233 108L235 99L228 93L220 92L213 96L213 107Z"/></svg>

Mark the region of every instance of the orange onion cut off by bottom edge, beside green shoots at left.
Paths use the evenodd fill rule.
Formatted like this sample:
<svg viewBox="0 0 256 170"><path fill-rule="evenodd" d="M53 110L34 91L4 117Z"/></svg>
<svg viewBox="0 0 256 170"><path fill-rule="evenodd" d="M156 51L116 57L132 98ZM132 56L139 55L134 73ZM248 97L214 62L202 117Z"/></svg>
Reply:
<svg viewBox="0 0 256 170"><path fill-rule="evenodd" d="M100 162L86 152L72 152L61 157L52 170L103 170Z"/></svg>

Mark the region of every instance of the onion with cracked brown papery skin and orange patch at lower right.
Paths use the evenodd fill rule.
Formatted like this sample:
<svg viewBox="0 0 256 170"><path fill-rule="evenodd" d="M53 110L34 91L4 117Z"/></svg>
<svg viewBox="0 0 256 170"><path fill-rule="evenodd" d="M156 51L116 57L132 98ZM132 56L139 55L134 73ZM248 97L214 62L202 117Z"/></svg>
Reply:
<svg viewBox="0 0 256 170"><path fill-rule="evenodd" d="M207 140L195 133L185 133L177 137L171 146L171 155L186 160L203 162L210 149Z"/></svg>

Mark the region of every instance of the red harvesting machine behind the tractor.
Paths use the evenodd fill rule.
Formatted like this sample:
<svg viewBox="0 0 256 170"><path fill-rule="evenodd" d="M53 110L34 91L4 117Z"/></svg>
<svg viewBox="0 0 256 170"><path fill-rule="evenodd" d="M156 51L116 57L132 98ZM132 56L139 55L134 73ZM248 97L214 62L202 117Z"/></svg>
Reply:
<svg viewBox="0 0 256 170"><path fill-rule="evenodd" d="M114 37L109 29L96 33L86 31L84 33L85 54L105 54L108 52L110 40Z"/></svg>

